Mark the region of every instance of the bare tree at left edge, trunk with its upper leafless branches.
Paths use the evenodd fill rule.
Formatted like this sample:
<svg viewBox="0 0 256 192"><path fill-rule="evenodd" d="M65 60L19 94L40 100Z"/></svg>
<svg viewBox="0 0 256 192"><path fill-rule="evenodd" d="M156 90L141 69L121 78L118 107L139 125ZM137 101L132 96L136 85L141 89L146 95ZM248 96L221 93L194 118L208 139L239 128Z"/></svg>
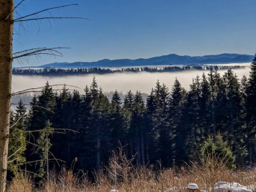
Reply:
<svg viewBox="0 0 256 192"><path fill-rule="evenodd" d="M16 22L30 22L36 20L51 20L51 19L86 19L86 18L73 18L73 17L49 17L42 16L40 13L49 12L52 9L59 9L69 7L71 5L62 5L59 7L51 7L42 9L28 15L20 16L20 18L13 18L15 9L24 3L26 0L20 0L14 6L14 0L0 0L0 192L5 192L6 175L7 175L7 156L8 156L8 143L9 143L9 119L11 110L11 68L13 59L26 58L32 55L54 55L61 56L58 49L63 47L54 48L36 48L28 49L13 53L13 24Z"/></svg>

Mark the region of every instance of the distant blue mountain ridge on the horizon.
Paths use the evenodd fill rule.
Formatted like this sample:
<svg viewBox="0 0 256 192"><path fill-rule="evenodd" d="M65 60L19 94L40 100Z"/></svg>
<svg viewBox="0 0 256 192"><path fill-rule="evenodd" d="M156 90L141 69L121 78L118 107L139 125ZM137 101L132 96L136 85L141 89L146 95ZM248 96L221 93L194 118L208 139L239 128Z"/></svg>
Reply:
<svg viewBox="0 0 256 192"><path fill-rule="evenodd" d="M94 68L94 67L135 67L150 65L203 65L203 64L228 64L228 63L249 63L253 55L240 55L223 53L220 55L188 56L188 55L163 55L149 59L103 59L94 62L74 63L49 63L36 67L51 68Z"/></svg>

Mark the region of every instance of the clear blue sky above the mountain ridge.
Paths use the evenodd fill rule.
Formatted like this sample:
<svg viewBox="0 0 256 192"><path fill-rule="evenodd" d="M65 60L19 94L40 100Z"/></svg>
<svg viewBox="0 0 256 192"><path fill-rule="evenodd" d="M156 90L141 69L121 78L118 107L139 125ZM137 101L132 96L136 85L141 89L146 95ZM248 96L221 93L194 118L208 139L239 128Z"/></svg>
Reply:
<svg viewBox="0 0 256 192"><path fill-rule="evenodd" d="M26 15L69 3L79 5L51 14L90 20L15 26L14 52L39 46L71 47L62 51L64 57L31 57L23 66L170 53L253 55L256 51L255 0L26 0L17 11Z"/></svg>

